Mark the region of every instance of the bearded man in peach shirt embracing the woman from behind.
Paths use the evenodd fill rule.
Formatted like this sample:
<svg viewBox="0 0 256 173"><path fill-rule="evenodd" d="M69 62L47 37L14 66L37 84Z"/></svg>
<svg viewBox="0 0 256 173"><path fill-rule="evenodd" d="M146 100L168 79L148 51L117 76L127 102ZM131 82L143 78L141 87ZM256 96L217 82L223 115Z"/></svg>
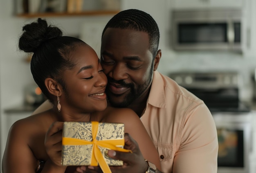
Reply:
<svg viewBox="0 0 256 173"><path fill-rule="evenodd" d="M101 39L101 65L108 77L109 105L137 113L164 173L216 173L218 140L211 113L202 100L157 72L162 55L158 44L158 26L143 11L121 11L108 22ZM127 140L133 153L109 151L110 157L125 161L112 172L136 172L140 166L146 172L136 142Z"/></svg>

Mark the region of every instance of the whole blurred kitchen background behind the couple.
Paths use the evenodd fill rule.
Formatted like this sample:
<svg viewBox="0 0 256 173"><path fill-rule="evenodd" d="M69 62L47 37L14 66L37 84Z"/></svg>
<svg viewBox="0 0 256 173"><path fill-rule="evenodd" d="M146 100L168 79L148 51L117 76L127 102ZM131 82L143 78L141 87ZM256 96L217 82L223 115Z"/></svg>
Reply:
<svg viewBox="0 0 256 173"><path fill-rule="evenodd" d="M47 18L99 55L105 24L134 8L159 26L158 70L209 106L218 128L218 173L256 173L256 0L67 1L0 0L1 162L12 123L44 101L30 72L31 55L18 50L22 26Z"/></svg>

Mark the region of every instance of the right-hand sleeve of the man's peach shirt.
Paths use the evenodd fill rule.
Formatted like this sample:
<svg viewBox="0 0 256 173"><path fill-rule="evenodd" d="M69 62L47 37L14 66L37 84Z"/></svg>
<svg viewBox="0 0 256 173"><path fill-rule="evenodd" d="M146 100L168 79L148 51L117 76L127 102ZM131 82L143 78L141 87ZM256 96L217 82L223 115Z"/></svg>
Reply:
<svg viewBox="0 0 256 173"><path fill-rule="evenodd" d="M173 173L217 173L218 136L209 109L202 103L184 117Z"/></svg>

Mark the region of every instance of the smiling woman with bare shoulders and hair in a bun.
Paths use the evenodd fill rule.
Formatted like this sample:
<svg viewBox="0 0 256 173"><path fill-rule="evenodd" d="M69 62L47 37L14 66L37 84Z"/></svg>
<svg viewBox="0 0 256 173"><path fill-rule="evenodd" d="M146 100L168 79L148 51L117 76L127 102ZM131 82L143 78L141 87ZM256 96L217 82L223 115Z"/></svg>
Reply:
<svg viewBox="0 0 256 173"><path fill-rule="evenodd" d="M124 123L125 132L138 142L144 158L160 169L155 146L137 114L131 109L107 107L107 79L89 45L62 36L59 28L38 18L23 27L19 48L34 53L31 73L54 107L13 124L4 151L3 173L35 173L38 161L45 162L41 173L76 172L75 166L61 165L64 121Z"/></svg>

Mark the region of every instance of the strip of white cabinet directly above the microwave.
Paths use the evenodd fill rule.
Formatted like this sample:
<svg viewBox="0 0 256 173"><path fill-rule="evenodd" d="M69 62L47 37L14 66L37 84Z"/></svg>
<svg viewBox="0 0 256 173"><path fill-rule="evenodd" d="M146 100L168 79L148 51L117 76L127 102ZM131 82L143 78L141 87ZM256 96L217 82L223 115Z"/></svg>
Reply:
<svg viewBox="0 0 256 173"><path fill-rule="evenodd" d="M242 8L243 0L173 0L173 9Z"/></svg>

